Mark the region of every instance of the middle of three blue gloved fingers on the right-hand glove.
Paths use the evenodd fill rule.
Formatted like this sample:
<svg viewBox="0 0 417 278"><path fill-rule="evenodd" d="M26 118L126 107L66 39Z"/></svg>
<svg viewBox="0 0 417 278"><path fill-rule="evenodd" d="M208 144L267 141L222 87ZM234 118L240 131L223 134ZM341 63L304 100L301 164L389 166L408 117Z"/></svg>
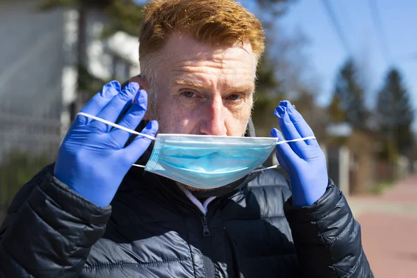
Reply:
<svg viewBox="0 0 417 278"><path fill-rule="evenodd" d="M282 133L286 140L293 140L301 138L300 133L298 133L297 129L293 122L290 120L290 116L288 115L287 109L284 106L277 106L275 109L275 115L278 117L279 127L281 128ZM297 141L297 142L289 142L291 149L300 157L305 156L306 151L306 142L304 140Z"/></svg>

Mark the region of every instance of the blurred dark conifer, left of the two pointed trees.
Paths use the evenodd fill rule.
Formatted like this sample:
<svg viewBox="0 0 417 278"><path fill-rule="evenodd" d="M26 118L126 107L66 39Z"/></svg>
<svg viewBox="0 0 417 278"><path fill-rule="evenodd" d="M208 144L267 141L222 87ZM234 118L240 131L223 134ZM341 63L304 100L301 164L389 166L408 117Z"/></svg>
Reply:
<svg viewBox="0 0 417 278"><path fill-rule="evenodd" d="M334 122L349 122L356 129L367 129L369 117L365 104L365 89L360 72L352 58L349 58L336 77L329 117Z"/></svg>

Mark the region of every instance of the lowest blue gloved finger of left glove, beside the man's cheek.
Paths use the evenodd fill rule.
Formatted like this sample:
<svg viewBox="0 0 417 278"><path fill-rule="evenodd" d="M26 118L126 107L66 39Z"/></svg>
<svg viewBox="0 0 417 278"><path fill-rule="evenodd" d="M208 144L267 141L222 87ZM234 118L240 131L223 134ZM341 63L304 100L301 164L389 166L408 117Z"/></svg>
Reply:
<svg viewBox="0 0 417 278"><path fill-rule="evenodd" d="M156 132L158 131L158 122L151 121L147 126L145 126L145 129L142 129L140 133L145 133L150 136L155 136ZM124 148L124 156L126 161L133 164L142 154L147 150L149 145L151 144L152 140L149 138L145 138L143 136L136 136L136 138L131 142L129 146Z"/></svg>

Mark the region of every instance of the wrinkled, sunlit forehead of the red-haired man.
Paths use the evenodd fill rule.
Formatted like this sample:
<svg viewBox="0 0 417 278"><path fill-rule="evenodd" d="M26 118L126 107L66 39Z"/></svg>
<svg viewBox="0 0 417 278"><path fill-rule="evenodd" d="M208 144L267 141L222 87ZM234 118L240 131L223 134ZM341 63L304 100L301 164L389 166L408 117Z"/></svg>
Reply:
<svg viewBox="0 0 417 278"><path fill-rule="evenodd" d="M158 72L170 85L254 90L256 59L245 46L212 47L192 38L174 38L158 59Z"/></svg>

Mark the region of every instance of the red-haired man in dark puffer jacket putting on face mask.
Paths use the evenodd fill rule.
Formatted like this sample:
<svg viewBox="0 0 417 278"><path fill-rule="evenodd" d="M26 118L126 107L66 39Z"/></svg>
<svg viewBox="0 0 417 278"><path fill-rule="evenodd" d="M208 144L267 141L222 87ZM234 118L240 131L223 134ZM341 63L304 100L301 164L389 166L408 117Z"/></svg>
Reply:
<svg viewBox="0 0 417 278"><path fill-rule="evenodd" d="M233 0L149 3L141 77L104 85L56 163L17 193L0 229L0 276L373 277L359 224L288 101L275 111L281 131L310 138L277 145L290 183L236 166L254 169L271 140L251 138L263 39Z"/></svg>

